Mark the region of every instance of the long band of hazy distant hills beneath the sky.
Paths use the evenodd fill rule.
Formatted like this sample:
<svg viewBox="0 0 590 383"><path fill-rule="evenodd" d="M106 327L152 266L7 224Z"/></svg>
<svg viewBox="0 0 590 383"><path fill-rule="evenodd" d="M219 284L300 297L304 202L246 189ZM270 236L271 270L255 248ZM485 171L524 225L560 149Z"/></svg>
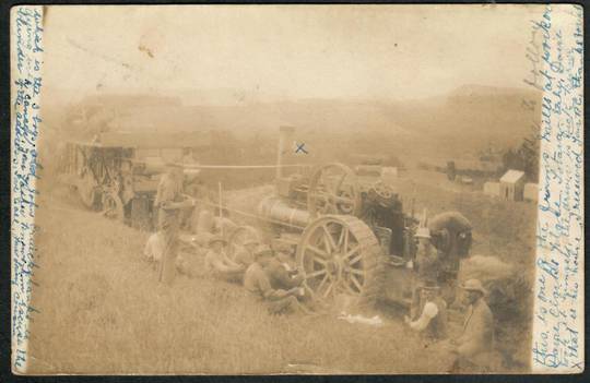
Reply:
<svg viewBox="0 0 590 383"><path fill-rule="evenodd" d="M228 96L224 96L228 95ZM236 96L237 95L237 96ZM226 105L223 100L229 97ZM464 85L434 98L409 101L302 99L259 101L226 89L206 103L203 92L101 95L69 107L54 106L49 123L66 130L225 130L236 136L275 136L280 125L297 128L299 141L322 151L378 152L404 157L473 157L507 148L529 136L539 122L541 95L523 88ZM536 101L533 110L523 100ZM202 105L191 105L202 103ZM214 104L214 105L211 105ZM75 127L74 127L75 125Z"/></svg>

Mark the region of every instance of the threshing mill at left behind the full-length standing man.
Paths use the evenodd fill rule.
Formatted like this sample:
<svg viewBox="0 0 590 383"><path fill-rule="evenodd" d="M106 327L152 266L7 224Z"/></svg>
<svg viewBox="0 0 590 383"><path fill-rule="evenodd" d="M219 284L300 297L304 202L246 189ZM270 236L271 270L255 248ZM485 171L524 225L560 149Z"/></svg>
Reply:
<svg viewBox="0 0 590 383"><path fill-rule="evenodd" d="M88 210L150 230L165 161L189 158L192 151L209 144L210 136L201 132L101 133L91 141L66 144L60 179Z"/></svg>

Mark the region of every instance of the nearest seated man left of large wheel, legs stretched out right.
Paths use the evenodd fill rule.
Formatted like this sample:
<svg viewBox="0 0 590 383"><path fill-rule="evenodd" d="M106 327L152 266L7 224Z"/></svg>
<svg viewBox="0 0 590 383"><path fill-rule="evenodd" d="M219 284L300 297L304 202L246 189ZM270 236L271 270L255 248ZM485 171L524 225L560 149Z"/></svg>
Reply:
<svg viewBox="0 0 590 383"><path fill-rule="evenodd" d="M244 275L244 286L246 289L258 297L264 299L268 310L272 314L285 312L309 311L297 300L297 296L303 296L304 290L300 287L294 287L288 290L274 289L271 286L269 276L264 267L272 260L272 250L268 247L261 247L255 253L255 263L252 263Z"/></svg>

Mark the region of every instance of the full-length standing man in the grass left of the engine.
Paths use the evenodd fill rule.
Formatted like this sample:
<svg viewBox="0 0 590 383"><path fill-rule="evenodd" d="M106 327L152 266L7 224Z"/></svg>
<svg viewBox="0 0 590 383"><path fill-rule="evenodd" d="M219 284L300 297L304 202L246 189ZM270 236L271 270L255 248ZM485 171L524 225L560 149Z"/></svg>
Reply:
<svg viewBox="0 0 590 383"><path fill-rule="evenodd" d="M179 213L194 206L191 200L182 196L182 167L178 163L166 164L164 173L157 185L154 207L157 210L158 231L164 241L162 262L160 262L158 280L172 285L175 277L175 263L178 251Z"/></svg>

